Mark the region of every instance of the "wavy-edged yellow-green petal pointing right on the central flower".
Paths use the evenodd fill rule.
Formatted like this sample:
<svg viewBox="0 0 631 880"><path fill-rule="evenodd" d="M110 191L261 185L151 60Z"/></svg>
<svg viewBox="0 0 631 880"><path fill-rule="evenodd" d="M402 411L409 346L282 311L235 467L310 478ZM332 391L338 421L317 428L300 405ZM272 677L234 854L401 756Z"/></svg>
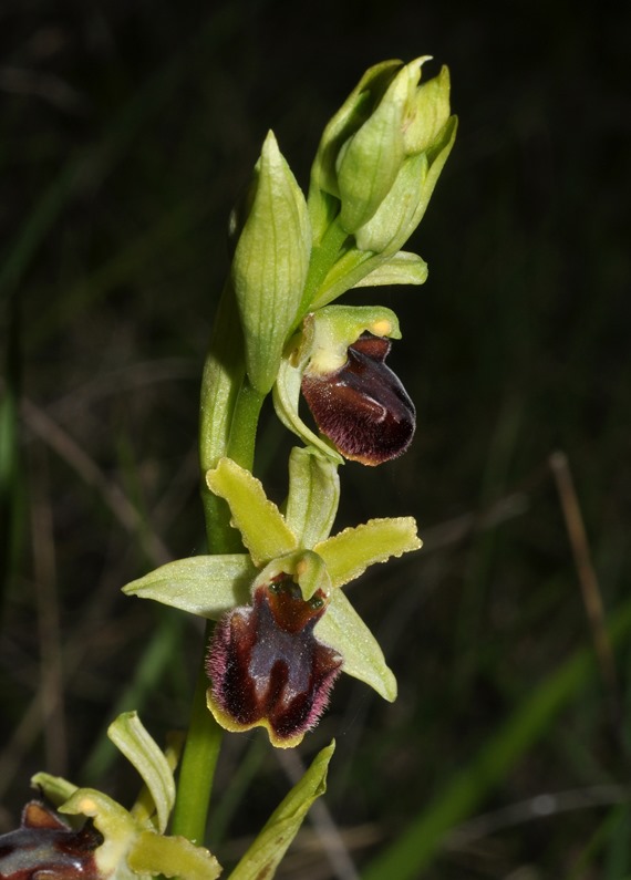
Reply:
<svg viewBox="0 0 631 880"><path fill-rule="evenodd" d="M313 550L324 560L333 587L341 587L359 578L369 566L418 550L422 546L413 517L394 517L370 519L361 526L344 529L316 545Z"/></svg>

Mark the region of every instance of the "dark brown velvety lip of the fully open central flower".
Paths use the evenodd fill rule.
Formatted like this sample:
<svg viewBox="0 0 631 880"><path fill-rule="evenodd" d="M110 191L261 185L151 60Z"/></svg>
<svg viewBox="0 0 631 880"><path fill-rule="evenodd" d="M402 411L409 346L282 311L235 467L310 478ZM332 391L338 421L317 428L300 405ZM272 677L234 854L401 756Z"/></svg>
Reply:
<svg viewBox="0 0 631 880"><path fill-rule="evenodd" d="M297 745L313 727L341 672L342 658L314 635L325 609L290 577L258 587L251 607L217 624L207 659L209 705L228 729L263 725L273 745Z"/></svg>

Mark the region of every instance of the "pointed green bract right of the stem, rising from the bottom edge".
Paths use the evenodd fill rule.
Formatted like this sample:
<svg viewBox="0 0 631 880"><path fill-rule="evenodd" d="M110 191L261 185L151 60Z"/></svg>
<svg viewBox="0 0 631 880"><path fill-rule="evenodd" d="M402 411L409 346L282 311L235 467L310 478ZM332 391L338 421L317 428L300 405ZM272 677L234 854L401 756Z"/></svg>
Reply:
<svg viewBox="0 0 631 880"><path fill-rule="evenodd" d="M335 743L323 748L272 812L230 874L230 880L261 880L273 877L289 845L298 834L313 801L327 790L327 769Z"/></svg>

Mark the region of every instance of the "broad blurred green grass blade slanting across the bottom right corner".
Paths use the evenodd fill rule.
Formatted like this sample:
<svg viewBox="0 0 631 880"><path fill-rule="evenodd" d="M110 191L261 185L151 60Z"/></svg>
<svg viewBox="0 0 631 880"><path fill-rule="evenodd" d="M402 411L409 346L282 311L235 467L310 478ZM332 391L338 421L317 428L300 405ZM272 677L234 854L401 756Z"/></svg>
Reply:
<svg viewBox="0 0 631 880"><path fill-rule="evenodd" d="M613 615L612 615L613 617ZM631 632L631 602L624 604L610 627L612 644ZM368 866L363 880L418 880L437 851L445 834L483 801L519 758L546 733L557 713L596 672L591 648L577 651L523 702L499 732L490 737L464 770L446 781L427 809L412 820L403 834Z"/></svg>

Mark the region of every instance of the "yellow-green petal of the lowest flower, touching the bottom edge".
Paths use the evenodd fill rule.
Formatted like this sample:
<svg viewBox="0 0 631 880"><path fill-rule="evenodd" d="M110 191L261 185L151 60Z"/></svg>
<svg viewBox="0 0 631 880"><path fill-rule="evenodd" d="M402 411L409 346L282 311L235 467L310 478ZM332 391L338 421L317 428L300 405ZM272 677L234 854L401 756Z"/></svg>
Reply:
<svg viewBox="0 0 631 880"><path fill-rule="evenodd" d="M221 866L207 849L185 837L163 837L152 831L138 835L127 857L138 874L182 877L182 880L215 880Z"/></svg>

